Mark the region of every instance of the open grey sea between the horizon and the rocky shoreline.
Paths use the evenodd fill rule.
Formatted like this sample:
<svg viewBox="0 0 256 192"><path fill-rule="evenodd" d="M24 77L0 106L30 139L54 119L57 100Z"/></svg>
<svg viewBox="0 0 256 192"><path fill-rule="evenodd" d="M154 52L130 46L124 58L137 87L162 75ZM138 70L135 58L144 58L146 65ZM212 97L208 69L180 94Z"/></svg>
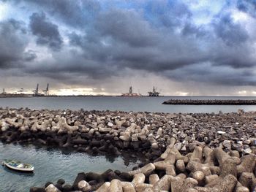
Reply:
<svg viewBox="0 0 256 192"><path fill-rule="evenodd" d="M236 112L256 110L256 106L246 105L165 105L168 99L256 99L256 97L201 97L201 96L172 96L172 97L114 97L114 96L66 96L66 97L31 97L31 98L0 98L0 107L29 107L31 109L50 110L121 110L148 112Z"/></svg>

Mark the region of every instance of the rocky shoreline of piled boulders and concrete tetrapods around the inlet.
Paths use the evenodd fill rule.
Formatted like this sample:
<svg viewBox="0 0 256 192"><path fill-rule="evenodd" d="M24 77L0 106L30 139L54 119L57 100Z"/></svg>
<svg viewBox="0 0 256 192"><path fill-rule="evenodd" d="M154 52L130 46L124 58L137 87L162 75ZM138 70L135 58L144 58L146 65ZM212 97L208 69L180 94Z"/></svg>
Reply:
<svg viewBox="0 0 256 192"><path fill-rule="evenodd" d="M140 151L130 172L79 173L30 191L253 191L256 112L167 114L0 109L1 142L104 154ZM83 171L83 170L81 170Z"/></svg>

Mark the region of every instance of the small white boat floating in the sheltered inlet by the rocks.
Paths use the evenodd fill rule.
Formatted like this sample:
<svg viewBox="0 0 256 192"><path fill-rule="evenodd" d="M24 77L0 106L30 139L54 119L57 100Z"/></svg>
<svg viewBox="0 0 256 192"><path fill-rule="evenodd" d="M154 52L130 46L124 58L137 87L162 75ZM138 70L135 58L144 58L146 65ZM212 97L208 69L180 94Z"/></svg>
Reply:
<svg viewBox="0 0 256 192"><path fill-rule="evenodd" d="M34 171L34 166L32 166L31 164L24 164L20 161L4 159L4 161L2 161L2 164L4 166L7 166L10 169L14 169L14 170L20 171L20 172L33 172Z"/></svg>

